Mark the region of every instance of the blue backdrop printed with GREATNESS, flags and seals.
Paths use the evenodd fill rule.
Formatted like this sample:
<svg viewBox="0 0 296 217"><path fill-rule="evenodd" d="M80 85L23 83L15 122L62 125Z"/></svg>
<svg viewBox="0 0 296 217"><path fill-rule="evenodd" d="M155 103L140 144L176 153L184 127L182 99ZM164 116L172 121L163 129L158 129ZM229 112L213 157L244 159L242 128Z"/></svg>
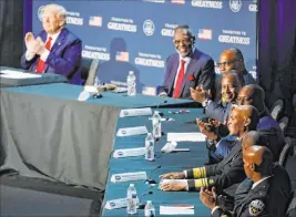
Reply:
<svg viewBox="0 0 296 217"><path fill-rule="evenodd" d="M68 10L68 28L82 39L82 55L101 61L103 82L125 81L133 70L140 89L160 85L177 24L188 24L196 48L215 62L224 49L241 49L256 76L257 0L33 0L34 33L39 9L50 2Z"/></svg>

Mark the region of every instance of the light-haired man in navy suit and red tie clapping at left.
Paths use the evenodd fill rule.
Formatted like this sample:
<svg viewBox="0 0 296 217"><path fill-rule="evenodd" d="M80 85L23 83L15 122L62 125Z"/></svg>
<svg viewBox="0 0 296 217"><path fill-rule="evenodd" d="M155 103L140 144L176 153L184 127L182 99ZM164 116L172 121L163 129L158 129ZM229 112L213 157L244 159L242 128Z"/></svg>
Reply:
<svg viewBox="0 0 296 217"><path fill-rule="evenodd" d="M40 14L43 31L37 39L31 32L25 34L27 51L21 56L21 66L37 73L59 73L71 83L81 84L81 40L65 28L65 16L62 6L43 8Z"/></svg>

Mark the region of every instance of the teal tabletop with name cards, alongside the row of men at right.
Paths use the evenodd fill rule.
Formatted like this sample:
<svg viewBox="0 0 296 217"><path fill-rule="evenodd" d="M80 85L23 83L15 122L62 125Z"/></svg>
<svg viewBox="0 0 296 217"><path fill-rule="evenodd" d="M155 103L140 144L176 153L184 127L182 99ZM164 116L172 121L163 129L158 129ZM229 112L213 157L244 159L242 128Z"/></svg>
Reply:
<svg viewBox="0 0 296 217"><path fill-rule="evenodd" d="M129 172L142 172L145 170L147 177L159 182L159 176L169 172L182 172L186 168L193 166L201 166L207 161L206 148L204 142L178 142L177 147L190 148L190 152L177 152L164 154L161 153L161 148L166 143L167 133L188 133L198 132L195 123L196 117L203 116L203 111L201 108L188 108L190 113L185 114L169 114L169 111L178 111L180 108L161 108L159 111L163 112L164 117L175 118L175 122L162 122L162 131L164 136L155 144L155 161L147 162L144 156L139 157L126 157L126 158L114 158L110 157L109 163L109 177L108 185L105 189L104 204L108 200L116 198L125 198L126 189L130 183L134 183L137 196L141 198L149 192L153 194L145 195L142 197L141 203L145 204L146 200L152 200L156 209L156 216L160 216L161 205L175 205L175 204L191 204L194 205L195 215L198 217L210 216L210 209L207 209L200 200L198 193L196 192L162 192L159 186L152 187L145 184L144 180L137 182L126 182L126 183L112 183L111 176L119 173ZM145 125L149 132L152 131L152 121L147 116L141 117L124 117L119 118L116 131L122 127L142 126ZM116 133L116 132L115 132ZM133 148L144 146L145 135L126 136L126 137L115 137L113 149L122 148ZM160 167L161 166L161 167ZM160 167L160 168L159 168ZM126 209L105 209L102 210L102 216L104 217L118 217L126 216ZM143 209L139 210L139 216L143 215ZM182 215L177 215L182 216Z"/></svg>

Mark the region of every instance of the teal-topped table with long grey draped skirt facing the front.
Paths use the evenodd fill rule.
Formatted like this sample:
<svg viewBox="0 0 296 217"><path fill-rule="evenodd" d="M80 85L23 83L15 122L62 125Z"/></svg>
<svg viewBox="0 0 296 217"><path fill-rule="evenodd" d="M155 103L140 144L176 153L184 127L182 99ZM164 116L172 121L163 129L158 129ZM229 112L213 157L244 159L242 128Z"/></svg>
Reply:
<svg viewBox="0 0 296 217"><path fill-rule="evenodd" d="M82 90L65 83L1 90L0 173L104 189L121 108L192 103L110 92L80 102Z"/></svg>

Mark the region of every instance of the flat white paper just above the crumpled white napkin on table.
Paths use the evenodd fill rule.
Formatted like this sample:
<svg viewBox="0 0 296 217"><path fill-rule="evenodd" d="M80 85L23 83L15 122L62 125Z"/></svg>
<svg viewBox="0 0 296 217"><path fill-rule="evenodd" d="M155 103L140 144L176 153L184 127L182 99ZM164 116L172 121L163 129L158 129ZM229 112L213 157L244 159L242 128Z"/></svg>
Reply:
<svg viewBox="0 0 296 217"><path fill-rule="evenodd" d="M205 142L205 135L202 133L167 133L169 142Z"/></svg>

